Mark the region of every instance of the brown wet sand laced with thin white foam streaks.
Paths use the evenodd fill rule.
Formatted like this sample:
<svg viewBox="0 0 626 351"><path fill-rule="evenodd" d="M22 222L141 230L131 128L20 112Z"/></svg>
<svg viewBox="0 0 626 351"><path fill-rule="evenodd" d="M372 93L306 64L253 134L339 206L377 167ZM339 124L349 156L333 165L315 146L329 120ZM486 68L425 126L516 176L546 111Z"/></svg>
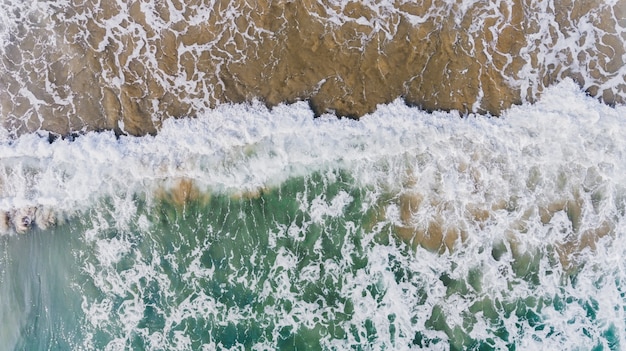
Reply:
<svg viewBox="0 0 626 351"><path fill-rule="evenodd" d="M8 6L0 121L13 135L154 134L166 118L254 99L352 118L399 97L498 115L565 77L626 101L626 0Z"/></svg>

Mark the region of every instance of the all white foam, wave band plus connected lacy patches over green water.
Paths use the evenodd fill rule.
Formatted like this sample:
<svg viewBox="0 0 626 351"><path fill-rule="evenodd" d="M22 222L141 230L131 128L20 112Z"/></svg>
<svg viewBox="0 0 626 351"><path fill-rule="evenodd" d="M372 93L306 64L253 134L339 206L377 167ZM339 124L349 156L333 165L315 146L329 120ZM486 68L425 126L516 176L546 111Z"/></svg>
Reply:
<svg viewBox="0 0 626 351"><path fill-rule="evenodd" d="M8 213L45 206L72 214L110 199L113 210L92 216L94 230L85 233L87 242L94 245L98 267L84 270L102 295L85 300L82 306L94 328L119 330L111 332L117 339L112 339L110 349L127 345L129 333L150 340L154 348L189 349L189 334L180 328L200 317L210 318L216 327L252 319L267 329L268 320L275 317L279 322L271 325L274 335L283 327L316 330L318 324L332 320L329 316L344 313L345 307L325 305L323 299L303 300L300 286L319 277L336 279L338 294L348 298L353 309L352 318L341 325L352 332L345 339L322 338L323 346L329 348L362 343L370 332L368 324L377 331L376 339L368 341L373 348L402 349L411 344L415 331L422 331L425 339L461 347L462 340L453 337L455 328L476 340L495 333L493 317L480 314L487 312L471 317L469 309L529 296L548 301L541 302L540 318L549 327L535 330L531 321L514 312L500 315L508 342L535 347L541 340L541 346L549 349L571 349L587 342L608 347L602 333L610 325L624 330L626 323L619 290L626 272L621 240L626 226L625 117L625 107L603 105L582 94L571 81L551 88L536 104L512 108L501 118L427 114L400 101L379 106L360 121L331 116L314 119L304 103L271 111L260 104L223 105L196 119L169 120L156 136L116 139L112 133L88 133L72 142L51 144L36 134L3 139L0 209ZM281 223L267 234L269 249L277 250L276 259L267 263L272 279L259 281L248 270L230 267L237 272L229 277L230 284L256 286L259 299L288 301L290 309L275 304L259 313L229 307L210 296L198 286L199 280L219 273L215 267L202 267L203 253L211 249L208 241L191 252L182 276L194 293L176 296L171 278L157 269L161 259L176 260L142 257L127 233L138 212L133 197L150 199L153 192L169 186L171 179L190 179L201 191L235 195L242 189L271 189L288 178L315 171L332 184L337 182L336 169L346 170L357 186L367 189L363 212L376 206L385 209L382 224L364 229L360 223L345 223L350 235L358 232L361 236L360 244L347 239L334 243L341 246L340 258L304 264L294 251L277 243L289 239L297 246L307 228L341 217L355 200L345 191L309 199L302 189L289 196L300 201L300 211L308 217ZM383 194L389 199L381 200ZM408 218L403 217L403 196L421 199L419 206L410 208ZM476 208L486 211L484 218ZM109 228L103 216L115 218L119 236L99 233ZM420 247L406 254L401 238L393 236L397 245L376 242L376 236L388 228L385 225L418 231L440 217L467 234L461 246L446 254ZM150 232L146 219L141 222L138 230ZM608 223L608 234L592 238L593 245L567 246L576 242L573 238L592 235L585 233L601 232L602 223ZM320 240L314 252L321 250ZM505 249L497 257L493 248L500 242ZM364 250L367 264L352 270L353 254L360 250L357 246ZM567 283L569 256L559 256L567 250L579 264L574 266L575 283ZM117 270L129 256L134 264ZM533 261L536 257L540 258ZM254 265L262 257L246 259ZM390 268L395 267L392 262L417 273L399 281ZM526 268L533 265L538 268ZM176 272L178 267L172 269ZM539 284L528 281L530 273L525 272L533 269L537 275L533 279ZM446 285L443 276L464 281L466 291L455 291L463 288ZM162 332L148 334L148 329L138 326L148 307L143 300L148 294L146 282L156 284L163 292L160 298L168 304L158 311L164 318ZM564 295L571 301L550 302ZM126 302L112 309L110 299L120 298ZM594 323L589 322L584 307L591 300L596 304L598 321ZM437 311L445 322L434 328L437 322L431 319ZM468 320L475 322L468 325ZM591 336L581 334L583 328ZM617 334L620 345L626 344L626 336ZM261 340L256 346L264 343L273 345ZM494 343L506 347L502 340ZM87 341L84 345L89 348ZM427 347L446 348L443 343Z"/></svg>

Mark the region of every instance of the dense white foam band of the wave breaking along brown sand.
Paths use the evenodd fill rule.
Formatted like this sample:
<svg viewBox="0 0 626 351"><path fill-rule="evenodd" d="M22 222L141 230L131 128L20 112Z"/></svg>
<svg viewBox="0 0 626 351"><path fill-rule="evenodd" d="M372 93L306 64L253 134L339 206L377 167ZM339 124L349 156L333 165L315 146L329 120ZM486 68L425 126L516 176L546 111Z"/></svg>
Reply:
<svg viewBox="0 0 626 351"><path fill-rule="evenodd" d="M87 133L50 144L29 134L0 143L0 210L71 213L112 196L130 206L116 206L121 218L134 212L129 195L169 179L191 179L202 191L256 191L338 166L382 186L406 178L407 162L414 187L444 202L515 197L522 208L568 199L578 186L619 201L624 115L624 107L602 105L566 81L497 119L426 114L400 101L358 122L314 119L305 103L271 111L252 104L168 120L154 137ZM594 203L596 215L606 203Z"/></svg>

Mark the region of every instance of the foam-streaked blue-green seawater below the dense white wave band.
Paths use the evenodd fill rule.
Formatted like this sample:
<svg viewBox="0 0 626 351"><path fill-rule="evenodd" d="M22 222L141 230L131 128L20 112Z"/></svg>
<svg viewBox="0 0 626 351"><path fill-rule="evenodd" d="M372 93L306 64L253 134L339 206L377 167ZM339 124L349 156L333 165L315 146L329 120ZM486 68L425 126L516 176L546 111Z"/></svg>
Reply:
<svg viewBox="0 0 626 351"><path fill-rule="evenodd" d="M183 204L129 193L2 238L0 338L13 350L523 350L573 336L581 350L625 346L598 303L616 289L624 316L624 272L597 272L594 291L576 271L551 282L549 247L514 257L498 243L407 245L378 219L393 195L372 205L373 192L335 169ZM339 212L313 218L313 204L336 199ZM124 225L116 207L130 209ZM502 274L485 277L490 264Z"/></svg>

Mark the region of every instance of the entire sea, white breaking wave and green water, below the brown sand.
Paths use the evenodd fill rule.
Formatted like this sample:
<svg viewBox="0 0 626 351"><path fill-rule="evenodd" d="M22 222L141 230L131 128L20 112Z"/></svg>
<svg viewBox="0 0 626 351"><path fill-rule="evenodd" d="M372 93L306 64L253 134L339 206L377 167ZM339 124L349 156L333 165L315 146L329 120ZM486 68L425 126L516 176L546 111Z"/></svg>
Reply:
<svg viewBox="0 0 626 351"><path fill-rule="evenodd" d="M0 143L0 341L29 350L626 344L626 110L221 105L156 136ZM79 166L77 166L79 165Z"/></svg>

